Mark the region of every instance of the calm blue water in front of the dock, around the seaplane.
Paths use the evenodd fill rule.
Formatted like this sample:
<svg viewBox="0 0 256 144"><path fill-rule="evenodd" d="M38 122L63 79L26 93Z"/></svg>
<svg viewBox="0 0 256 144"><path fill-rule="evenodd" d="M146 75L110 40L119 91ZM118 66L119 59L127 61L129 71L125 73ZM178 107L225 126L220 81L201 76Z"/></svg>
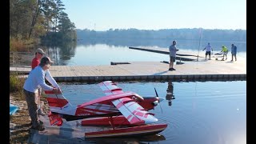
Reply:
<svg viewBox="0 0 256 144"><path fill-rule="evenodd" d="M105 94L97 84L64 84L63 94L72 105ZM155 110L168 124L160 134L139 138L103 138L86 143L246 143L246 81L232 82L118 82L124 91L165 100Z"/></svg>

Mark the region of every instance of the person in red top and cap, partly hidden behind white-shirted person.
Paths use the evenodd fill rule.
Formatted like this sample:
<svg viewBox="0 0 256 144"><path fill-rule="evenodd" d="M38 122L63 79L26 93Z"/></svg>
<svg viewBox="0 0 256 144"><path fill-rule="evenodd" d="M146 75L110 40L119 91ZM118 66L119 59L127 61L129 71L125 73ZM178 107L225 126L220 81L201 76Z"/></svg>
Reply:
<svg viewBox="0 0 256 144"><path fill-rule="evenodd" d="M38 48L38 50L35 51L35 56L31 62L31 68L32 70L34 70L34 68L36 66L39 65L40 61L41 61L41 58L42 56L46 54L42 49ZM40 107L40 96L41 96L41 93L42 93L42 89L41 88L38 88L38 94L36 94L37 98L36 98L36 103L38 104L38 114L39 115L42 115L44 116L45 113L42 111L41 107Z"/></svg>

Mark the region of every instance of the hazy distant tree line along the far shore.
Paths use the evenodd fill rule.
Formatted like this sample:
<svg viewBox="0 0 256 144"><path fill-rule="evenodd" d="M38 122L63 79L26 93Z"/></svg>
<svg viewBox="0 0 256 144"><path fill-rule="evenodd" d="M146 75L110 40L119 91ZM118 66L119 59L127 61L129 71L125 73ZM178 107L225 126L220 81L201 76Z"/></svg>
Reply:
<svg viewBox="0 0 256 144"><path fill-rule="evenodd" d="M110 29L106 31L77 29L78 39L90 38L122 38L122 39L182 39L214 41L246 42L246 30L208 30L194 29L163 29L163 30L138 30L138 29Z"/></svg>

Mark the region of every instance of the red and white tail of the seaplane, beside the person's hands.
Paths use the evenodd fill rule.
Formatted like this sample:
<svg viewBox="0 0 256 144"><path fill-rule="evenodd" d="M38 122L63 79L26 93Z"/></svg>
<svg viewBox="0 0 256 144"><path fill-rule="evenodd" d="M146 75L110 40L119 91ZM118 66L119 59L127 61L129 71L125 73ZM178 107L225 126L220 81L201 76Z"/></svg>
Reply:
<svg viewBox="0 0 256 144"><path fill-rule="evenodd" d="M62 109L71 106L70 102L64 97L59 90L58 94L53 91L45 90L46 99L50 106L50 114L48 114L51 126L62 126Z"/></svg>

